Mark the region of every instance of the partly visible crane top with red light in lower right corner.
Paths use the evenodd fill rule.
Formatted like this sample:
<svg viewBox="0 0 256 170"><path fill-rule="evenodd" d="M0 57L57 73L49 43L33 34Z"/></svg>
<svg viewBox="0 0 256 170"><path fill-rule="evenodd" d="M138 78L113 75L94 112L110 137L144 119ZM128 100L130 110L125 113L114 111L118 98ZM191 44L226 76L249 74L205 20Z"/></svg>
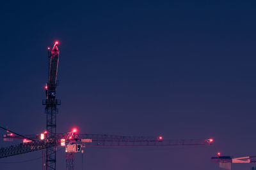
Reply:
<svg viewBox="0 0 256 170"><path fill-rule="evenodd" d="M232 164L250 164L256 163L256 156L246 156L246 157L238 157L232 158L230 156L221 156L221 153L217 153L217 157L212 157L212 162L218 162L219 167L223 169L231 170Z"/></svg>

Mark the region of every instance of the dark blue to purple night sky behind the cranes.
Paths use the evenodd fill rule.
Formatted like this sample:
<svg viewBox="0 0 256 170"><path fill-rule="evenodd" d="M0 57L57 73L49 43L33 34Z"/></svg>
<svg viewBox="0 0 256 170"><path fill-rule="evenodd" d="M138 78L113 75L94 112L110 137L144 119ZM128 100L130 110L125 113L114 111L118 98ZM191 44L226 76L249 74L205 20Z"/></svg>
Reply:
<svg viewBox="0 0 256 170"><path fill-rule="evenodd" d="M215 140L86 148L84 169L214 170L216 152L256 155L255 7L223 0L2 1L0 125L20 134L45 131L47 47L58 40L58 132ZM0 147L14 143L1 140ZM0 169L41 169L41 159L17 163L41 156L0 159ZM65 167L58 150L57 169ZM82 170L81 153L75 168Z"/></svg>

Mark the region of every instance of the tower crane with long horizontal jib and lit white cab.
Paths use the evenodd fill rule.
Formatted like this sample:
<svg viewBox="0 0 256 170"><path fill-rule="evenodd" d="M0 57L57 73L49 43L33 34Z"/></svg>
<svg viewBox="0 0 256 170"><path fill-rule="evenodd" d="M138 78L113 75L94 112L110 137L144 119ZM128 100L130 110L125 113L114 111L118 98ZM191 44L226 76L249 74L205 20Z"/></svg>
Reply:
<svg viewBox="0 0 256 170"><path fill-rule="evenodd" d="M15 134L5 134L3 139L22 139L23 143L0 148L0 159L11 157L28 152L35 152L57 146L65 146L67 170L74 170L74 153L81 152L84 147L111 147L111 146L208 146L212 145L213 139L163 139L163 136L143 137L143 136L116 136L109 134L78 134L71 131L63 134L56 134L56 138L51 142L42 138L42 134L16 136ZM33 141L31 141L33 140Z"/></svg>

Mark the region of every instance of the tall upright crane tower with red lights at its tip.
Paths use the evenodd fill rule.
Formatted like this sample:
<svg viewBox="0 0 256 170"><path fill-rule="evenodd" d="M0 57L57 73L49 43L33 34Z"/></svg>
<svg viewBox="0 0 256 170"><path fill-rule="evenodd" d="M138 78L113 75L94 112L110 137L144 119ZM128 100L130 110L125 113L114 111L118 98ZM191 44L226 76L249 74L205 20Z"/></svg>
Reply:
<svg viewBox="0 0 256 170"><path fill-rule="evenodd" d="M46 113L46 129L47 129L47 145L56 139L56 115L58 113L57 106L60 105L60 100L56 99L57 73L60 50L58 48L58 41L50 50L49 55L49 77L45 85L46 99L43 100ZM56 146L47 147L45 152L45 168L46 170L56 169Z"/></svg>

